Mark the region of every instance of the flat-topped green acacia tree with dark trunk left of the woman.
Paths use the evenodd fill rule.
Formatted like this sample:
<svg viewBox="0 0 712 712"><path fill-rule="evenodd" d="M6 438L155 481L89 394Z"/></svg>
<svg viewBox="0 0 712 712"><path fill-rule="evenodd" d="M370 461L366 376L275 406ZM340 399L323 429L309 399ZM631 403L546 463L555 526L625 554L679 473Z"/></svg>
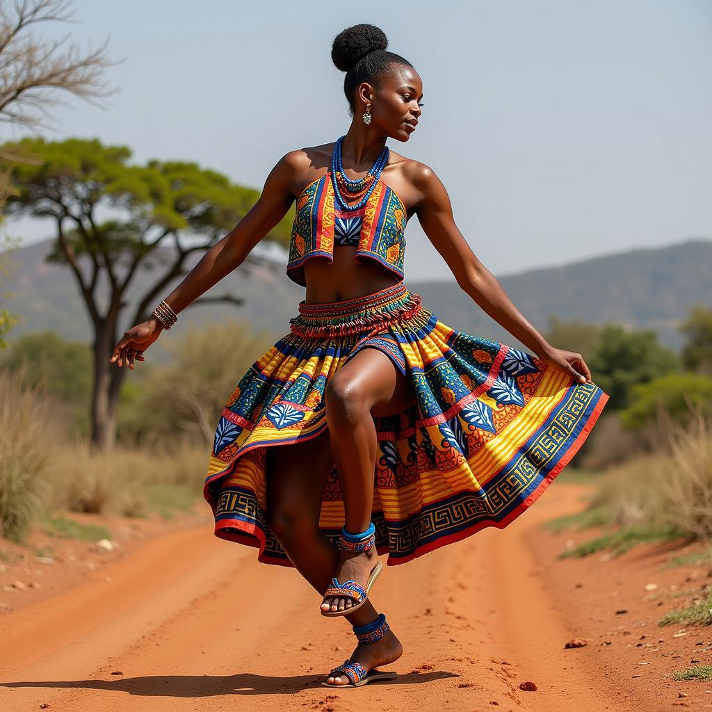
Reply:
<svg viewBox="0 0 712 712"><path fill-rule="evenodd" d="M129 326L149 317L169 285L189 271L189 256L210 248L234 228L258 192L231 184L194 162L152 159L130 165L127 147L105 146L97 139L27 138L0 150L4 148L36 157L33 164L12 165L14 194L7 211L55 223L56 243L49 259L70 268L95 335L91 441L108 448L114 443L116 406L127 374L127 369L112 367L109 357L119 337L120 316L129 304L127 296L134 295L135 276L143 269L162 269L140 295ZM120 217L101 219L104 211ZM285 216L266 239L286 245L288 236ZM216 301L239 305L242 300L224 294L193 304Z"/></svg>

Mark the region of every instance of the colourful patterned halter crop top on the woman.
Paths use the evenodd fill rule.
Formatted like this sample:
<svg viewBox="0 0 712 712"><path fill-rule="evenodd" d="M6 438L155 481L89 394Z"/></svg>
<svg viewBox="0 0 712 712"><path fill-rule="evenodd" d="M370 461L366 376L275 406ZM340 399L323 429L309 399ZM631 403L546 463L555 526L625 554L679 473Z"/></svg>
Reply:
<svg viewBox="0 0 712 712"><path fill-rule="evenodd" d="M356 211L335 208L331 172L310 183L297 199L289 242L287 276L306 286L303 264L313 257L334 261L338 245L357 248L355 261L375 260L404 278L405 226L403 201L380 178L365 206Z"/></svg>

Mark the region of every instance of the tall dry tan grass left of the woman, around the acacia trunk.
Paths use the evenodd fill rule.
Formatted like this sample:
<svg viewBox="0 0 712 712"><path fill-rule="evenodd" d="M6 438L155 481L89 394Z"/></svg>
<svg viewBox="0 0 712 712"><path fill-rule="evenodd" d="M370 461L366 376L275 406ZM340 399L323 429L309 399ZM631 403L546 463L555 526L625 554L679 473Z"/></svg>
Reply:
<svg viewBox="0 0 712 712"><path fill-rule="evenodd" d="M201 500L211 444L177 435L99 451L71 439L66 421L66 406L30 364L0 370L0 536L23 543L62 511L170 519Z"/></svg>

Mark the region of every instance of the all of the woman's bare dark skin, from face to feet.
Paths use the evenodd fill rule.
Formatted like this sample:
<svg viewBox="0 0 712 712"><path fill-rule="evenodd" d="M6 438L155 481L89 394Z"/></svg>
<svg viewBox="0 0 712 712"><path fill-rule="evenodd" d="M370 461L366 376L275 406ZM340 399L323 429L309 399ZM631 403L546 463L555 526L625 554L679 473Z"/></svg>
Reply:
<svg viewBox="0 0 712 712"><path fill-rule="evenodd" d="M407 142L422 109L422 80L414 68L393 64L378 85L364 82L355 94L355 112L342 146L347 176L365 176L383 150L387 138ZM370 104L372 120L362 113ZM207 251L192 272L165 301L175 313L239 267L254 246L285 216L303 189L330 170L333 143L296 150L273 167L261 196L248 214L219 243ZM411 218L418 216L433 246L444 258L459 286L488 315L551 367L580 382L592 382L580 353L557 349L531 325L508 298L501 285L474 255L455 224L449 195L434 171L424 163L391 150L381 173ZM314 258L304 265L307 303L357 298L392 286L398 278L377 263L356 263L355 246L335 246L333 262ZM136 325L117 342L110 358L118 367L133 369L135 360L157 339L163 325L155 317ZM365 585L377 561L375 549L357 555L337 551L318 530L320 503L326 477L336 464L344 493L345 527L361 532L369 525L376 456L374 417L395 414L414 403L412 383L392 361L375 348L361 350L343 365L325 390L328 430L300 444L268 448L268 505L271 527L295 568L322 593L331 578L353 579ZM295 450L296 449L296 450ZM345 610L351 599L325 598L323 610ZM378 615L371 595L365 604L345 614L352 625L371 622ZM351 661L368 671L402 654L392 631L375 643L357 646ZM349 682L345 675L329 677L330 684Z"/></svg>

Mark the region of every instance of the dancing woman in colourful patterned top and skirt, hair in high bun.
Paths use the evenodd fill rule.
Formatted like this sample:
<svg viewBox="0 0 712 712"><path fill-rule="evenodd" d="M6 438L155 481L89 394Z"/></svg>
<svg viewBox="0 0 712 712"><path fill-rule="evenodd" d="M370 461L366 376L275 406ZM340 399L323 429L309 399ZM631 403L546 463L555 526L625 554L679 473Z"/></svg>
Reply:
<svg viewBox="0 0 712 712"><path fill-rule="evenodd" d="M396 565L504 528L607 401L582 356L550 345L473 255L433 170L385 146L407 142L422 112L421 78L386 46L372 25L339 33L331 56L346 72L349 130L284 155L239 225L111 356L144 360L296 199L286 273L305 299L226 402L204 497L217 536L295 567L323 596L321 613L352 624L358 645L328 686L395 676L374 670L402 654L369 595L378 555ZM414 215L461 288L536 356L444 325L405 287Z"/></svg>

